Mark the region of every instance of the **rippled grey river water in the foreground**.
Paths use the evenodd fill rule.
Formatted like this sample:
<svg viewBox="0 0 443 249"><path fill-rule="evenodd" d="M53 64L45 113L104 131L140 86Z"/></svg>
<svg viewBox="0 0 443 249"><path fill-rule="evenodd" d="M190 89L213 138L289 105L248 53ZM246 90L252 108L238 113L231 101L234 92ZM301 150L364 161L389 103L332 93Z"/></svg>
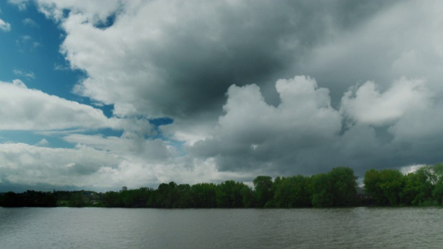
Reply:
<svg viewBox="0 0 443 249"><path fill-rule="evenodd" d="M443 248L441 208L0 208L0 248Z"/></svg>

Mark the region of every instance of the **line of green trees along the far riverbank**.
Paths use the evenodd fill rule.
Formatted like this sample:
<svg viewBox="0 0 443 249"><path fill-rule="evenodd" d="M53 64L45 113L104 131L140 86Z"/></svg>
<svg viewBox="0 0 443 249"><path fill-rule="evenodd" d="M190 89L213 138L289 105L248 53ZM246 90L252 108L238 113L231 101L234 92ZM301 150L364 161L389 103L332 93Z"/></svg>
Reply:
<svg viewBox="0 0 443 249"><path fill-rule="evenodd" d="M357 205L441 205L443 165L425 166L414 173L370 169L365 192L357 187L354 171L336 167L314 176L257 176L253 187L235 181L161 183L154 190L98 193L54 191L1 194L3 207L106 207L106 208L333 208Z"/></svg>

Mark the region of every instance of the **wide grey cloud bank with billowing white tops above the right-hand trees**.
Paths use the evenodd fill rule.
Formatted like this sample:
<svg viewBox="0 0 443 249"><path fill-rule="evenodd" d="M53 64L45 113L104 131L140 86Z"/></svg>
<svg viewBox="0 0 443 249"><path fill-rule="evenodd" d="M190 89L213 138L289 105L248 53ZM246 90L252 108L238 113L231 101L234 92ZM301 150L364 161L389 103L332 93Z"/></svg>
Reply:
<svg viewBox="0 0 443 249"><path fill-rule="evenodd" d="M257 86L231 86L213 138L190 146L191 153L215 158L220 171L259 170L274 175L316 174L342 165L363 176L371 167L399 168L441 160L436 148L443 140L431 136L438 133L443 113L431 95L422 95L426 92L423 82L401 79L386 93L373 94L375 102L364 98L368 102L358 111L363 116L381 105L370 114L377 120L374 123L347 123L343 113L330 106L329 92L309 77L278 82L285 87L276 84L281 98L277 107L264 102ZM417 84L421 85L418 89ZM365 85L356 91L363 89ZM386 99L393 103L386 104ZM394 118L381 126L378 120L387 114Z"/></svg>

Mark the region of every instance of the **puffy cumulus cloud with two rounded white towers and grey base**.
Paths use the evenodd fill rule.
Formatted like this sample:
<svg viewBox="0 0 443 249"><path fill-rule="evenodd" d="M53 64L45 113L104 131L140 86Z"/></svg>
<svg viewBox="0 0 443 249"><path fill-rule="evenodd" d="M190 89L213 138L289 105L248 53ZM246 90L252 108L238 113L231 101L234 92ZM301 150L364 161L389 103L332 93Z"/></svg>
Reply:
<svg viewBox="0 0 443 249"><path fill-rule="evenodd" d="M264 101L256 85L231 86L213 138L196 142L192 152L214 157L221 171L304 171L300 154L332 145L341 115L330 106L329 91L310 77L278 80L275 88L277 107Z"/></svg>

